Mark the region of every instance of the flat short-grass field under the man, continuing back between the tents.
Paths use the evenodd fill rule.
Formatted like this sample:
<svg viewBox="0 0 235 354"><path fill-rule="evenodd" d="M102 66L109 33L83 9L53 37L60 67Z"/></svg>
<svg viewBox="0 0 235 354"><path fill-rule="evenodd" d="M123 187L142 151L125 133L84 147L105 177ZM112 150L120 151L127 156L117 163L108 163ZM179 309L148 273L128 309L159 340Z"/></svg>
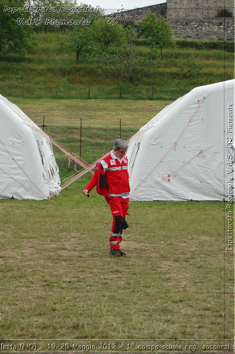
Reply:
<svg viewBox="0 0 235 354"><path fill-rule="evenodd" d="M126 139L169 103L10 100L38 125L44 115L45 132L78 155L82 117L81 155L89 161L110 151L120 119ZM61 179L74 173L72 165L60 168ZM131 202L127 256L113 259L109 207L95 190L89 199L82 195L89 178L49 201L0 200L0 338L109 339L125 348L127 339L184 340L197 352L206 352L199 340L233 339L233 254L224 253L223 203Z"/></svg>

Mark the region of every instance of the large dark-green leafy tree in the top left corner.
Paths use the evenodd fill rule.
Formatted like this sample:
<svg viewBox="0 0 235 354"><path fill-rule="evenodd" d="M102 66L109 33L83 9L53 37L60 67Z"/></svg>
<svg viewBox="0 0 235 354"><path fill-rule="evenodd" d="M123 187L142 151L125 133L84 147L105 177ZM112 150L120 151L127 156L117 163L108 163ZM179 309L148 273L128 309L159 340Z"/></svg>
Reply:
<svg viewBox="0 0 235 354"><path fill-rule="evenodd" d="M0 0L0 53L14 52L20 55L25 55L27 51L34 47L30 43L30 36L32 29L30 25L18 25L17 18L29 17L22 16L22 12L7 12L4 11L5 6L9 7L23 7L24 0L4 1ZM27 13L26 13L27 14Z"/></svg>

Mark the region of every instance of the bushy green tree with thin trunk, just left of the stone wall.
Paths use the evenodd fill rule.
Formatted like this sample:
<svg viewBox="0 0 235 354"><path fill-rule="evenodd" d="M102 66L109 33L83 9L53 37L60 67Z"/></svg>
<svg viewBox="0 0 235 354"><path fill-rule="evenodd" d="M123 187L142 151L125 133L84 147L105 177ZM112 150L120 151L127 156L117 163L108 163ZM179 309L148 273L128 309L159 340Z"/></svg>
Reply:
<svg viewBox="0 0 235 354"><path fill-rule="evenodd" d="M172 32L169 23L161 17L156 18L155 13L149 13L139 25L138 35L149 40L150 45L160 48L161 59L163 58L163 48L165 46L174 46L175 42L171 39Z"/></svg>

